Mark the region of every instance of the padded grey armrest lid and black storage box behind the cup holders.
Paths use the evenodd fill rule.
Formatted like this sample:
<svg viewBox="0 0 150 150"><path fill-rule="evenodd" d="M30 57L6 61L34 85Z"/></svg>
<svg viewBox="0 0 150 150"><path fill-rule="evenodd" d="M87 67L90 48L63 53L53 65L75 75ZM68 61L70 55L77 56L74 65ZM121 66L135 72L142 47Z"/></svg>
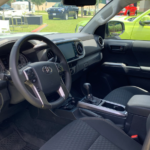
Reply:
<svg viewBox="0 0 150 150"><path fill-rule="evenodd" d="M129 135L137 134L141 141L144 141L146 131L146 121L150 114L150 95L133 96L126 107L128 117L125 123L125 131Z"/></svg>

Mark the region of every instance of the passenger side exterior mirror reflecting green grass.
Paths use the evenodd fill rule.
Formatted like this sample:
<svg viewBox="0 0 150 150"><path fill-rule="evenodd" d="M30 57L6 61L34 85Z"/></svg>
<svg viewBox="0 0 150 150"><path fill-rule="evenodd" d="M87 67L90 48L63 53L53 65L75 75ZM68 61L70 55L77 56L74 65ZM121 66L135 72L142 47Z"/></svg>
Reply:
<svg viewBox="0 0 150 150"><path fill-rule="evenodd" d="M109 37L116 37L125 31L125 25L121 21L109 21L106 25L106 35Z"/></svg>

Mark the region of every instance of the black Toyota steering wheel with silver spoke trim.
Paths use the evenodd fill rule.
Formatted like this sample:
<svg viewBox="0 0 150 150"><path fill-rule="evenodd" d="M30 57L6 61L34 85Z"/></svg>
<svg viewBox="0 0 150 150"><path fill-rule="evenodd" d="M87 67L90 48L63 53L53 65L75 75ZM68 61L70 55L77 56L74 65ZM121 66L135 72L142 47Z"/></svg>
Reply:
<svg viewBox="0 0 150 150"><path fill-rule="evenodd" d="M18 69L20 47L29 40L45 42L60 63L41 61L30 63L22 69ZM68 98L71 89L71 73L68 63L59 48L49 39L40 35L27 35L20 38L13 46L9 60L9 70L12 81L24 98L38 108L54 109ZM65 83L60 74L65 73ZM29 89L27 87L30 87ZM60 98L54 102L48 102L46 95L57 92Z"/></svg>

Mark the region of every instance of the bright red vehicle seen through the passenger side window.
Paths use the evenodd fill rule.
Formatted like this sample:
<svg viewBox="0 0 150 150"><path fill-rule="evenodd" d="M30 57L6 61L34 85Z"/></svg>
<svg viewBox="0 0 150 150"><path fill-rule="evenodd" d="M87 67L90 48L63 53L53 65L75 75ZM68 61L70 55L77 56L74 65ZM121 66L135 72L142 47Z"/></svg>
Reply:
<svg viewBox="0 0 150 150"><path fill-rule="evenodd" d="M130 4L123 8L118 15L121 16L136 16L137 15L137 6L136 4Z"/></svg>

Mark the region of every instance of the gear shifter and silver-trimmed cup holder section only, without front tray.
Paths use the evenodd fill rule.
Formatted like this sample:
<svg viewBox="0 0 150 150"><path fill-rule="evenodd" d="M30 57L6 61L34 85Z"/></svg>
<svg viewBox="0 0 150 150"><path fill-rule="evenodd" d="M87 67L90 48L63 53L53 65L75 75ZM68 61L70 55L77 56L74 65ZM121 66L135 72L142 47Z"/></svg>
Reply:
<svg viewBox="0 0 150 150"><path fill-rule="evenodd" d="M94 97L89 83L83 85L83 92L85 97L77 105L82 113L87 109L116 124L124 125L128 115L125 106Z"/></svg>

